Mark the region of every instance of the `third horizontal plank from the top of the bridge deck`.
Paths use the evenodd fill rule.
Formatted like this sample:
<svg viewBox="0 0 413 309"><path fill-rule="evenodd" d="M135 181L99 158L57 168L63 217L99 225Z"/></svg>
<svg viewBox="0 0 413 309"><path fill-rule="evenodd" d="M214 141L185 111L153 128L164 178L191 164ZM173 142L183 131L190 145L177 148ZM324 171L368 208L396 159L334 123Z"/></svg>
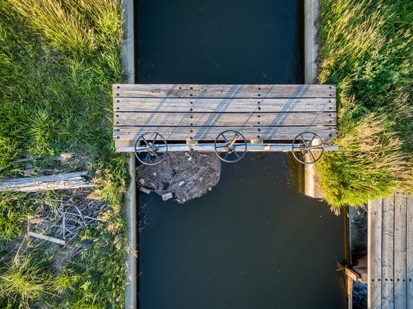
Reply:
<svg viewBox="0 0 413 309"><path fill-rule="evenodd" d="M116 126L291 126L291 125L336 125L335 112L322 113L274 113L274 114L221 114L221 113L139 113L116 112ZM191 125L192 124L192 125Z"/></svg>

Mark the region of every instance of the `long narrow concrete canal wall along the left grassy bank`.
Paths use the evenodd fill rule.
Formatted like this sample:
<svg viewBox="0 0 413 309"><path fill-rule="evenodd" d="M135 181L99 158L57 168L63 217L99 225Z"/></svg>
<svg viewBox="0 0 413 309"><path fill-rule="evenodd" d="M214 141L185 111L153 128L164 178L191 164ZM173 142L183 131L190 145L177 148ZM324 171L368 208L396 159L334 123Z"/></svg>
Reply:
<svg viewBox="0 0 413 309"><path fill-rule="evenodd" d="M134 0L121 0L123 15L123 44L122 65L125 72L125 83L135 83L135 46L134 46ZM135 156L129 153L126 158L131 175L131 184L126 193L125 217L127 220L127 242L129 253L126 262L125 308L138 308L138 251L137 249L137 222L136 222L136 175Z"/></svg>

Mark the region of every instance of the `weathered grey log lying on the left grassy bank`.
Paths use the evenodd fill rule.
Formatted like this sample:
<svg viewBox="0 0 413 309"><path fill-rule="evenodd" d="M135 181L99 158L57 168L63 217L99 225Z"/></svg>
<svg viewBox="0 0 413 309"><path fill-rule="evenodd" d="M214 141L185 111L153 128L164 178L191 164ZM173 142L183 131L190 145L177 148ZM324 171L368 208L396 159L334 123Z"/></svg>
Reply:
<svg viewBox="0 0 413 309"><path fill-rule="evenodd" d="M89 182L85 178L86 175L87 172L83 171L79 173L60 173L37 178L14 178L0 182L0 192L37 192L96 186L94 182Z"/></svg>

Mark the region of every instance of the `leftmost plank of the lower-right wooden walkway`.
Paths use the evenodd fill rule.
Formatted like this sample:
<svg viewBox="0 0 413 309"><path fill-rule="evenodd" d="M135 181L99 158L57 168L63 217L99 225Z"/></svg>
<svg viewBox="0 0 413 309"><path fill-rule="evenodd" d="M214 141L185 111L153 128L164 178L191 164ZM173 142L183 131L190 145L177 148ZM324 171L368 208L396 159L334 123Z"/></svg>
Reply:
<svg viewBox="0 0 413 309"><path fill-rule="evenodd" d="M381 309L381 198L368 202L368 308Z"/></svg>

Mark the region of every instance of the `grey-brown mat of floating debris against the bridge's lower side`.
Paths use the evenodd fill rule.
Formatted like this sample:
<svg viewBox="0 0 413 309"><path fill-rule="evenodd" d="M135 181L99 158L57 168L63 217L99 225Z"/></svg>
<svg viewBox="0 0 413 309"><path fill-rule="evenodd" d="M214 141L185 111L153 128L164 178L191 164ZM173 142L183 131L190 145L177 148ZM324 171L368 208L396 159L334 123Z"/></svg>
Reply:
<svg viewBox="0 0 413 309"><path fill-rule="evenodd" d="M191 153L191 161L187 157L188 153L169 152L160 164L142 165L138 178L153 185L153 191L159 195L173 193L180 203L199 198L218 184L221 160L213 152Z"/></svg>

